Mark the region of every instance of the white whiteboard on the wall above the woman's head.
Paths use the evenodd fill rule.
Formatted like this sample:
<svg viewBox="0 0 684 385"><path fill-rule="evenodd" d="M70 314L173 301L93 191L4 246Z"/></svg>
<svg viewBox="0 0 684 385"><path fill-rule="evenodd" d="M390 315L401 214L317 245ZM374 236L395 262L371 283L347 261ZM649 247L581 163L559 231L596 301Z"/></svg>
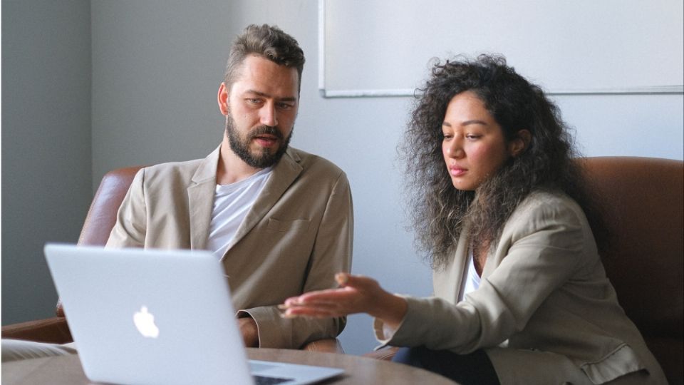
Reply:
<svg viewBox="0 0 684 385"><path fill-rule="evenodd" d="M319 0L321 94L403 96L431 58L502 53L549 93L683 93L682 0Z"/></svg>

